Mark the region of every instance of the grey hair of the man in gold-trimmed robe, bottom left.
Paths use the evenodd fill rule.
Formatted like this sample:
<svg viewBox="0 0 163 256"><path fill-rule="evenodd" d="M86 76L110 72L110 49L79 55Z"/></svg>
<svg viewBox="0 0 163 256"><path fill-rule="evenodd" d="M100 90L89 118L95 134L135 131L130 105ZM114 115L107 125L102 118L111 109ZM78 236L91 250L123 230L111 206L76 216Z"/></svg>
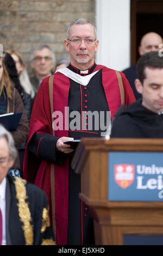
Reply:
<svg viewBox="0 0 163 256"><path fill-rule="evenodd" d="M1 124L0 124L0 138L5 137L7 139L9 145L9 156L15 160L17 156L17 150L15 148L14 139L10 132L8 132Z"/></svg>

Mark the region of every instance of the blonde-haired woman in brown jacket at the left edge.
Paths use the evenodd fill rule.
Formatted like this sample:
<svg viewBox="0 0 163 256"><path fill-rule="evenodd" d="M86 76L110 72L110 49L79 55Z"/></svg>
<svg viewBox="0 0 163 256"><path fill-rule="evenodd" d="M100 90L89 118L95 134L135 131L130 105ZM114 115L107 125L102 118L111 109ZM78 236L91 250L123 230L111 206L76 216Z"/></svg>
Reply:
<svg viewBox="0 0 163 256"><path fill-rule="evenodd" d="M0 114L20 113L22 117L16 131L11 131L15 145L18 148L26 142L28 135L28 119L23 106L23 102L17 89L12 86L7 69L3 63L3 57L0 57ZM20 169L20 162L17 159L14 163L14 170Z"/></svg>

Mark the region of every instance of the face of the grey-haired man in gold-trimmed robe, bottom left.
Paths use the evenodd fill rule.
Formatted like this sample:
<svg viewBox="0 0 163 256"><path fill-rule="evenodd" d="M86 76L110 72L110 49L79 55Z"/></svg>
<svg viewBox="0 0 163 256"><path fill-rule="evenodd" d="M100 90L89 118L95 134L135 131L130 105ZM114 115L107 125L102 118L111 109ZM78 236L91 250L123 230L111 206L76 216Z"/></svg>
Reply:
<svg viewBox="0 0 163 256"><path fill-rule="evenodd" d="M9 159L9 147L5 137L0 138L0 183L7 176L9 168L14 163Z"/></svg>

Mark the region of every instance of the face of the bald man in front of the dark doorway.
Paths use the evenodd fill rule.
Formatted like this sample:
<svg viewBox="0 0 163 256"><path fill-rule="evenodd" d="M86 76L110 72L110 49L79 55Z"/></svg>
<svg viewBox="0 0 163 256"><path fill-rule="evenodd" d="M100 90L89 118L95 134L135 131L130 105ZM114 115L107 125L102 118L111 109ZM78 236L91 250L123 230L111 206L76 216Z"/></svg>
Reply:
<svg viewBox="0 0 163 256"><path fill-rule="evenodd" d="M159 50L159 44L162 44L162 38L156 33L148 33L143 36L141 46L139 47L140 56L147 52L153 52Z"/></svg>

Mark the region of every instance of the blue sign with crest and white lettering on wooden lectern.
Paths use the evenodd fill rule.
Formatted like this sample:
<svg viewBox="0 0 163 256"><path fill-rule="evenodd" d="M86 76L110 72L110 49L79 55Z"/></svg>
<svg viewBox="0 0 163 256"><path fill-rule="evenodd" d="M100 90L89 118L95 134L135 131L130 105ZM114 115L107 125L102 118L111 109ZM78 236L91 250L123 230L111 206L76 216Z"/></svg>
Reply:
<svg viewBox="0 0 163 256"><path fill-rule="evenodd" d="M108 200L162 201L163 153L108 153Z"/></svg>

